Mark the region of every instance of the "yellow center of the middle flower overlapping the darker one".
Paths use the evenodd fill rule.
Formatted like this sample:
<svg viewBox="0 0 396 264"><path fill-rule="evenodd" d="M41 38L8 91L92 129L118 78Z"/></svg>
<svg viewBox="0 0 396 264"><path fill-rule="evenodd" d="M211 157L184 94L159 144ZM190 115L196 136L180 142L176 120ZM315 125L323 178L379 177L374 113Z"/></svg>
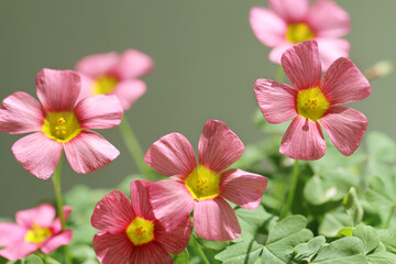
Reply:
<svg viewBox="0 0 396 264"><path fill-rule="evenodd" d="M194 199L210 199L219 195L220 175L199 165L187 176L185 184Z"/></svg>

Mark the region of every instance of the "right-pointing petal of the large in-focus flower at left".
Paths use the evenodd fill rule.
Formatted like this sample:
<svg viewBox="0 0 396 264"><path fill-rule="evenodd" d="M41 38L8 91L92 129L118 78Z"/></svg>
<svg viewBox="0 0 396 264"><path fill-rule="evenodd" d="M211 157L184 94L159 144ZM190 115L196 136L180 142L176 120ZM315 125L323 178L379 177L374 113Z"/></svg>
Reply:
<svg viewBox="0 0 396 264"><path fill-rule="evenodd" d="M121 123L123 109L116 96L94 96L82 99L75 113L85 129L111 129Z"/></svg>

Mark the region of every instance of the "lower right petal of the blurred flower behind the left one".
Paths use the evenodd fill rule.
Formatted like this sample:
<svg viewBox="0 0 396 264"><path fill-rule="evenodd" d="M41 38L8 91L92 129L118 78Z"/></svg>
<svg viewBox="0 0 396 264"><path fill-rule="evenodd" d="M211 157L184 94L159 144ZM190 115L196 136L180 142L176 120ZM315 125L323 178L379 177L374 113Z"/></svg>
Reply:
<svg viewBox="0 0 396 264"><path fill-rule="evenodd" d="M129 79L120 81L113 91L122 108L128 110L131 106L144 95L146 90L146 85L143 80L139 79Z"/></svg>

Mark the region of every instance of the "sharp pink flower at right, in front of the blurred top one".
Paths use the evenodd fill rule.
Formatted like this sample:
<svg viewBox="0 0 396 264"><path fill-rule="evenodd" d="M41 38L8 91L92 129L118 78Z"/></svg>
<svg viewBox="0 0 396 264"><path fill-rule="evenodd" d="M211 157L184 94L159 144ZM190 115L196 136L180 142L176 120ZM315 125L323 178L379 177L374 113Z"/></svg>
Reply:
<svg viewBox="0 0 396 264"><path fill-rule="evenodd" d="M294 87L267 79L257 79L254 87L268 123L294 119L282 140L280 153L296 160L319 160L326 152L322 127L336 147L351 155L362 141L367 119L340 105L370 96L367 79L344 57L331 64L321 77L316 41L287 50L282 66Z"/></svg>

